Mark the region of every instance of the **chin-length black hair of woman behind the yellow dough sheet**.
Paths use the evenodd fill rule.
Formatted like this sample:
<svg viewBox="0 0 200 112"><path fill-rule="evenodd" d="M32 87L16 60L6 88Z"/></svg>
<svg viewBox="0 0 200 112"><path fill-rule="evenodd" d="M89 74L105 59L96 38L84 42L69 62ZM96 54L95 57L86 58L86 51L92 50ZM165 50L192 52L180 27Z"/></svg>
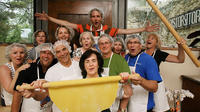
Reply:
<svg viewBox="0 0 200 112"><path fill-rule="evenodd" d="M83 78L86 78L86 76L87 76L87 72L85 70L84 62L92 54L95 54L97 56L97 61L98 61L98 65L99 65L98 74L100 75L103 72L103 57L97 51L89 49L85 53L83 53L83 55L81 56L80 62L79 62L79 67L81 69L81 73L82 73Z"/></svg>

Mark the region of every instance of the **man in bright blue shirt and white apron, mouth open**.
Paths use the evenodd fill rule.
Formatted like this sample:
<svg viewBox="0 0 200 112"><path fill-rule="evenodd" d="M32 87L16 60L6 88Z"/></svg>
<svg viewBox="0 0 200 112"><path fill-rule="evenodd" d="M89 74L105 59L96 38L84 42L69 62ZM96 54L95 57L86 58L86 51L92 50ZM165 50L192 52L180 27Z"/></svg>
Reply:
<svg viewBox="0 0 200 112"><path fill-rule="evenodd" d="M162 81L156 61L141 51L142 40L138 35L131 35L125 40L129 53L125 56L132 73L140 76L131 78L134 94L129 101L128 112L151 112L154 107L153 92L157 91L158 82Z"/></svg>

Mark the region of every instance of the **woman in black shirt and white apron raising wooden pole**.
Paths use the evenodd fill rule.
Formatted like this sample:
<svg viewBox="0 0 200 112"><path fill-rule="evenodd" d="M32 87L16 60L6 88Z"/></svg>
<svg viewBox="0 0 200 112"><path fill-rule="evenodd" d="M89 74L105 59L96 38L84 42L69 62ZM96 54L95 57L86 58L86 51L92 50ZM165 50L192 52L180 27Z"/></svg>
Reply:
<svg viewBox="0 0 200 112"><path fill-rule="evenodd" d="M185 40L182 39L178 44L178 55L169 54L167 52L161 51L161 42L155 33L151 33L147 36L146 39L146 50L145 52L151 55L157 62L158 69L161 62L167 61L172 63L183 63L185 60L185 53L181 44L185 43ZM169 104L167 96L165 94L164 82L158 83L158 91L154 94L155 107L154 111L167 111L169 110Z"/></svg>

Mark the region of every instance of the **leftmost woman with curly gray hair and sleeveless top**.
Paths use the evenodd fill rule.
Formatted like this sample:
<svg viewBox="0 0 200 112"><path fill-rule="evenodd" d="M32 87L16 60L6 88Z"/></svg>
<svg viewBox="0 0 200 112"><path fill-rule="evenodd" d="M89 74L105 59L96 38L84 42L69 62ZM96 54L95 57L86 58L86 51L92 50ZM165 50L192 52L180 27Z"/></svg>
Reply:
<svg viewBox="0 0 200 112"><path fill-rule="evenodd" d="M13 94L13 78L15 71L25 62L27 49L24 44L13 43L6 48L8 63L0 66L0 84L2 86L1 104L11 105Z"/></svg>

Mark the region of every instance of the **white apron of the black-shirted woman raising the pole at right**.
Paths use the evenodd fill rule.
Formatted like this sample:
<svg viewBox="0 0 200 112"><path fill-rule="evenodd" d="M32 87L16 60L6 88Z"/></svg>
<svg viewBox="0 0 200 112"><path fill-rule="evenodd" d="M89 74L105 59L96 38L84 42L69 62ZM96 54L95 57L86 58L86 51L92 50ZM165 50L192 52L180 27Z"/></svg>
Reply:
<svg viewBox="0 0 200 112"><path fill-rule="evenodd" d="M153 58L154 58L155 54L156 54L156 50L153 52L153 55L152 55ZM162 78L162 76L161 76L161 78ZM158 89L154 93L154 102L155 102L155 106L153 108L154 112L164 112L164 111L169 110L169 103L168 103L167 95L165 92L164 81L158 83Z"/></svg>

